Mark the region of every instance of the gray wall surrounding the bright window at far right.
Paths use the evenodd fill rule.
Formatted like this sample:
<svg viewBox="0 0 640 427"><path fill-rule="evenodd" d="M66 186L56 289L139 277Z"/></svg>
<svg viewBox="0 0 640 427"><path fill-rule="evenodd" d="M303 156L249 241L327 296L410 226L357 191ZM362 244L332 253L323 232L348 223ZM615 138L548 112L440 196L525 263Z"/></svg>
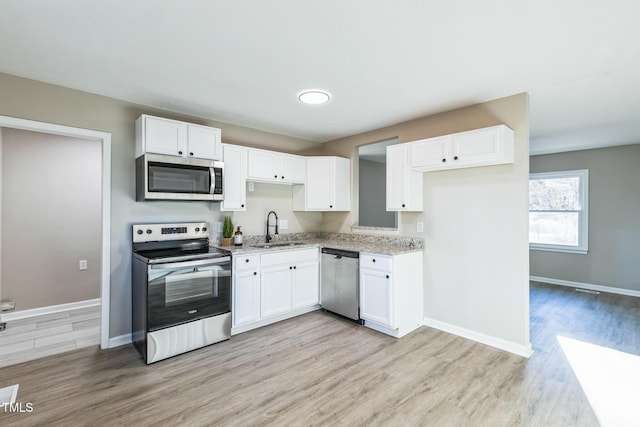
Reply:
<svg viewBox="0 0 640 427"><path fill-rule="evenodd" d="M530 158L531 172L589 169L589 252L530 251L532 276L640 291L640 145Z"/></svg>

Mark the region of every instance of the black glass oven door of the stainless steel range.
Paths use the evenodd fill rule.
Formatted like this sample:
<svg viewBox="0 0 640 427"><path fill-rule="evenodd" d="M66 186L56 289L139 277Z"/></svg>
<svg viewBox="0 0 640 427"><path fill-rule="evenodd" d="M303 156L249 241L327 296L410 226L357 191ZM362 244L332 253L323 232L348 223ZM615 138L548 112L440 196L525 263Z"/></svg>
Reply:
<svg viewBox="0 0 640 427"><path fill-rule="evenodd" d="M149 332L231 311L231 259L150 264Z"/></svg>

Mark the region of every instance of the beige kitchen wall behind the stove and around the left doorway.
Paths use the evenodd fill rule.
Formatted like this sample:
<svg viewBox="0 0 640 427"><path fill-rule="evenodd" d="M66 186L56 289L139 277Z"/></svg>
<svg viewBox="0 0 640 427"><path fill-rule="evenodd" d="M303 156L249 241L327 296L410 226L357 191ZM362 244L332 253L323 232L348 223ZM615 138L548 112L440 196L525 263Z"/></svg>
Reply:
<svg viewBox="0 0 640 427"><path fill-rule="evenodd" d="M0 93L0 115L111 133L111 337L131 330L131 225L163 221L217 222L224 214L220 213L219 204L135 201L134 122L140 114L216 126L222 129L222 141L227 143L296 154L317 146L296 138L189 117L6 74L0 74ZM258 207L255 217L245 217L241 225L261 221L263 209L266 207ZM278 212L278 215L293 217L294 213L289 209L289 212ZM45 219L46 211L41 213ZM304 217L304 214L301 215ZM312 214L308 221L301 219L294 222L294 226L316 224L318 214Z"/></svg>

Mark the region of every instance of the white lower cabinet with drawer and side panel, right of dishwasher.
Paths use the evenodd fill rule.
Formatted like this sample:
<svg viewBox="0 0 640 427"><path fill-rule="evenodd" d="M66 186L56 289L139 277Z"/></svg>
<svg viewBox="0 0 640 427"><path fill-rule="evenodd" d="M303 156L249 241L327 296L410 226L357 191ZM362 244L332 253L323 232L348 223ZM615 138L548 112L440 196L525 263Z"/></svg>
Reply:
<svg viewBox="0 0 640 427"><path fill-rule="evenodd" d="M360 254L360 317L400 338L423 324L422 252Z"/></svg>

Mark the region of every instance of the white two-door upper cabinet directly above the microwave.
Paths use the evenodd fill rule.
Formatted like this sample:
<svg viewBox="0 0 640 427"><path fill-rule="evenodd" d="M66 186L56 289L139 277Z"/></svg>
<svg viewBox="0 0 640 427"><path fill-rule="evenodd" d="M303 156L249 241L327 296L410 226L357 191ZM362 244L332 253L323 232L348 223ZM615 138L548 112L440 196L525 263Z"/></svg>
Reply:
<svg viewBox="0 0 640 427"><path fill-rule="evenodd" d="M143 114L136 120L136 157L144 153L221 160L221 131Z"/></svg>

